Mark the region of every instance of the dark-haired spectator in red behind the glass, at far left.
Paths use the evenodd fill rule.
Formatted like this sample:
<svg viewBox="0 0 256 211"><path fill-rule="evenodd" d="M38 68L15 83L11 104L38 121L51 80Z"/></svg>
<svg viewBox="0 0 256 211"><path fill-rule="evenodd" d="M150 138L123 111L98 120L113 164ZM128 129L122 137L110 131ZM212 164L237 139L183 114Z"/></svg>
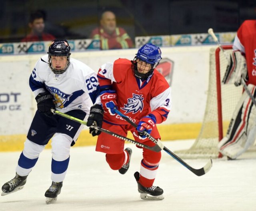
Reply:
<svg viewBox="0 0 256 211"><path fill-rule="evenodd" d="M44 14L41 11L37 10L30 14L28 26L31 32L21 42L55 40L53 35L44 32Z"/></svg>

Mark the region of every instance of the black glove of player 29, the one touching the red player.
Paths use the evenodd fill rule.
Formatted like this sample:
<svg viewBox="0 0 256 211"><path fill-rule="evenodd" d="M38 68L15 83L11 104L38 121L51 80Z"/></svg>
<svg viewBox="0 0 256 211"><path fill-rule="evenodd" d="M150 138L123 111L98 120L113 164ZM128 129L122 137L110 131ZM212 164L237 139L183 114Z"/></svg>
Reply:
<svg viewBox="0 0 256 211"><path fill-rule="evenodd" d="M104 113L104 110L100 105L95 104L94 106L92 106L90 109L90 115L87 119L86 125L88 127L90 126L102 127L103 113ZM101 131L94 129L93 127L90 127L89 130L92 136L100 135L101 133Z"/></svg>

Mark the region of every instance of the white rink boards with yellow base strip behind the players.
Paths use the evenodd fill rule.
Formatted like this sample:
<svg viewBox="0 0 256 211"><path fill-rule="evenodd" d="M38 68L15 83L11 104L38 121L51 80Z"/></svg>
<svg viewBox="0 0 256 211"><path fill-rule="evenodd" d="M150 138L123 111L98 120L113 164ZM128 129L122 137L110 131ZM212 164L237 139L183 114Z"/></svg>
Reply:
<svg viewBox="0 0 256 211"><path fill-rule="evenodd" d="M162 140L196 138L206 105L209 50L215 46L162 47L164 61L172 61L172 109L158 126ZM137 49L72 52L95 72L118 58L132 60ZM20 150L36 111L28 79L36 61L44 54L0 57L0 151ZM168 67L169 63L167 63ZM164 67L163 67L164 68ZM76 145L92 145L96 138L82 131Z"/></svg>

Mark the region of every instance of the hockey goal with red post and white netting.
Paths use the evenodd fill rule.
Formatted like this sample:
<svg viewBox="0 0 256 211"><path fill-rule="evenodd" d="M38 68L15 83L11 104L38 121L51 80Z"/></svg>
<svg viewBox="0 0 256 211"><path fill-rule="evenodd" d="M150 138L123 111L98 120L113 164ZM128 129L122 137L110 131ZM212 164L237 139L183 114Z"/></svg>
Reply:
<svg viewBox="0 0 256 211"><path fill-rule="evenodd" d="M232 46L223 48L225 51L232 51ZM218 157L218 142L226 135L233 111L243 91L242 86L221 83L226 66L227 60L220 48L211 48L208 94L202 127L190 149L175 152L180 157ZM249 148L248 151L250 150L255 149Z"/></svg>

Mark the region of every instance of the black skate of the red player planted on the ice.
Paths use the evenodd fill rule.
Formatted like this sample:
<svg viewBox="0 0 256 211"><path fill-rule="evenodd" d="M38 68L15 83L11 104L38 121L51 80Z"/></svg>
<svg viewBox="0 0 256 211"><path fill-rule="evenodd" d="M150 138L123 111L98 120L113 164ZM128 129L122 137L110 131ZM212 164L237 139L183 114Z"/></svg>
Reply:
<svg viewBox="0 0 256 211"><path fill-rule="evenodd" d="M139 183L140 173L136 171L134 177L138 183L140 198L143 200L163 200L163 189L158 186L144 187Z"/></svg>

